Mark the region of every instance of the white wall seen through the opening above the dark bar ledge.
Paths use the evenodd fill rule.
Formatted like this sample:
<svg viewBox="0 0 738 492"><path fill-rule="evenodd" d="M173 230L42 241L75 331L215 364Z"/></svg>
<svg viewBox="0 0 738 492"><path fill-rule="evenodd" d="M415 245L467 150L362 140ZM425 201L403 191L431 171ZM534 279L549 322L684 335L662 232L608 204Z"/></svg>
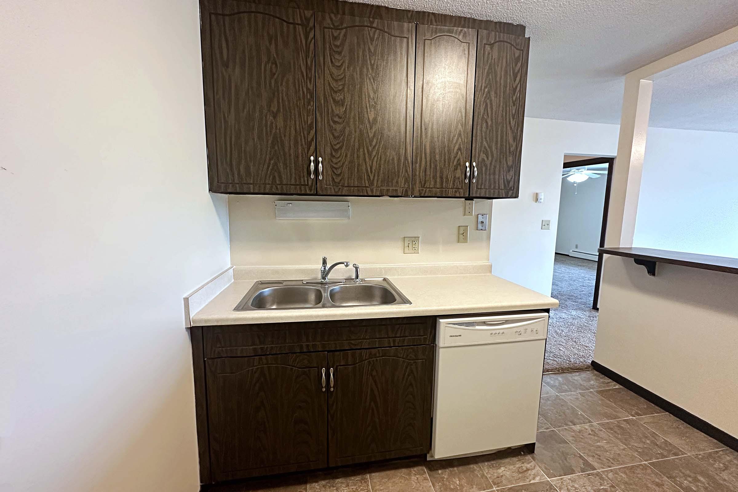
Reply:
<svg viewBox="0 0 738 492"><path fill-rule="evenodd" d="M633 246L738 257L738 134L649 128Z"/></svg>

